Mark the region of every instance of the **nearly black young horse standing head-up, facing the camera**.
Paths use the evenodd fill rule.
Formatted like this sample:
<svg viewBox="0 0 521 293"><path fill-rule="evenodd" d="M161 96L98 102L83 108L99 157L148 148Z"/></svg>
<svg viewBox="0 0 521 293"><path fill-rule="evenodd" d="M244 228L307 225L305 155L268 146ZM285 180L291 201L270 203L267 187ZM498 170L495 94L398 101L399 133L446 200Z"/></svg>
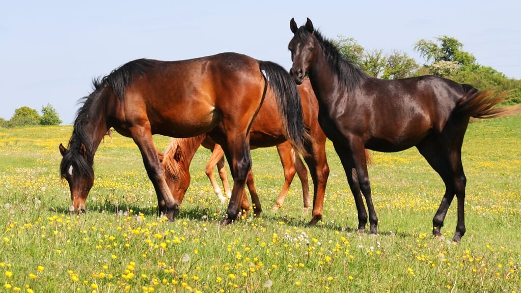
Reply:
<svg viewBox="0 0 521 293"><path fill-rule="evenodd" d="M378 218L371 199L364 148L401 151L415 146L438 172L445 194L432 220L435 236L441 235L445 214L457 197L457 225L453 237L465 234L465 184L461 161L463 136L470 117L502 114L494 108L504 94L477 91L474 87L435 76L380 80L342 58L337 47L313 28L307 19L289 43L297 84L309 76L319 104L318 121L333 142L358 211L358 230L364 230L369 212L370 233Z"/></svg>

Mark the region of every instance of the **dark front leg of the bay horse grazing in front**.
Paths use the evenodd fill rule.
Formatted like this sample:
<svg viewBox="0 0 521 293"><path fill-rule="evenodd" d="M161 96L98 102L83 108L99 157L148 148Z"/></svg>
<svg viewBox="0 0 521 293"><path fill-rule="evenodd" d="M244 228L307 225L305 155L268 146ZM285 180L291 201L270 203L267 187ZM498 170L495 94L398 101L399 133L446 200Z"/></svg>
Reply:
<svg viewBox="0 0 521 293"><path fill-rule="evenodd" d="M160 214L165 214L169 221L173 221L174 216L179 211L178 202L172 197L170 189L165 181L165 176L157 150L152 139L152 132L147 128L134 127L130 129L134 143L138 145L143 157L148 178L154 185L157 195L157 205Z"/></svg>

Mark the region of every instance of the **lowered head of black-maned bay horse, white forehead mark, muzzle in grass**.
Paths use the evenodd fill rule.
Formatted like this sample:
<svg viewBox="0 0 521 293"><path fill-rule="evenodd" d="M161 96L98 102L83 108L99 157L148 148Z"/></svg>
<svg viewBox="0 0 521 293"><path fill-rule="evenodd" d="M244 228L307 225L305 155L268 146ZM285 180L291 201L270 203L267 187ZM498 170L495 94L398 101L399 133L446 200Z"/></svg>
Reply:
<svg viewBox="0 0 521 293"><path fill-rule="evenodd" d="M74 211L85 210L85 200L94 184L92 155L84 144L65 148L59 145L61 152L60 175L69 183L72 207Z"/></svg>

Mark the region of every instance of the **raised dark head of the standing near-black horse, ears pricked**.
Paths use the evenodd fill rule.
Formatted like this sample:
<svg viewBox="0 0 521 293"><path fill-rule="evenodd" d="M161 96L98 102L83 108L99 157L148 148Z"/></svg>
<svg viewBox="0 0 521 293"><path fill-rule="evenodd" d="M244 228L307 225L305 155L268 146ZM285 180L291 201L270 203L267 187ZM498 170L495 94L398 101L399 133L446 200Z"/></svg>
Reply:
<svg viewBox="0 0 521 293"><path fill-rule="evenodd" d="M310 67L315 63L316 46L319 45L313 37L315 30L309 18L306 21L306 25L301 28L297 27L295 19L292 18L290 28L293 32L293 38L288 45L291 51L291 60L293 61L290 75L297 84L301 84Z"/></svg>

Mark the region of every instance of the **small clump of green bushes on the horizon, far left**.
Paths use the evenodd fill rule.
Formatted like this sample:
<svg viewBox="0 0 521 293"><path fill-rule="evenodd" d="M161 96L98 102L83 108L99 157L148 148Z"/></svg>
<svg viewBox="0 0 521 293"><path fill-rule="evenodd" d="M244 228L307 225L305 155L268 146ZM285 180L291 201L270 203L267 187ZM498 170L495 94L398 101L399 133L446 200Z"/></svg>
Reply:
<svg viewBox="0 0 521 293"><path fill-rule="evenodd" d="M9 120L0 118L0 126L13 128L27 125L59 125L61 119L58 112L51 104L42 106L42 114L33 108L23 106L15 110L13 117Z"/></svg>

